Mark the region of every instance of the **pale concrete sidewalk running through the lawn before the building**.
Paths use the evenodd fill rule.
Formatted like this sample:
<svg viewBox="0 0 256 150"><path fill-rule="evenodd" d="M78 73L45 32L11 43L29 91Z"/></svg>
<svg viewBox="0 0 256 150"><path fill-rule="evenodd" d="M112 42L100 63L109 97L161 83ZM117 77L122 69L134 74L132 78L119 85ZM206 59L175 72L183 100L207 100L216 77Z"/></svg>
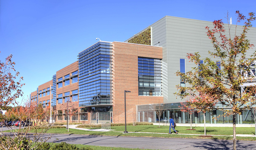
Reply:
<svg viewBox="0 0 256 150"><path fill-rule="evenodd" d="M66 126L66 125L63 125ZM109 130L109 129L85 129L85 128L77 128L77 125L69 125L69 128L71 129L78 129L78 130L86 130L86 131L99 131L99 132L106 132L106 131L113 131L113 132L118 132L114 130ZM122 133L122 132L120 132ZM152 132L129 132L129 133L152 133ZM155 134L168 134L168 133L155 133ZM175 134L175 133L172 133ZM202 134L182 134L179 133L180 135L202 135ZM208 134L207 134L208 135ZM211 136L233 136L233 135L211 135ZM251 134L237 134L236 136L242 136L242 137L256 137L256 135L251 135Z"/></svg>

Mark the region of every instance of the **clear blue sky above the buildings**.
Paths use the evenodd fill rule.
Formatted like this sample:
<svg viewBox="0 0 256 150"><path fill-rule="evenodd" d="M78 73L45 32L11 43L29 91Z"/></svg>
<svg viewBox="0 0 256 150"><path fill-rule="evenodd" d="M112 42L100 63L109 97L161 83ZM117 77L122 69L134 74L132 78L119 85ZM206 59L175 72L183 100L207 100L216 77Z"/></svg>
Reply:
<svg viewBox="0 0 256 150"><path fill-rule="evenodd" d="M214 21L229 11L256 12L255 1L1 0L0 60L12 54L24 77L24 96L77 61L80 51L103 41L125 41L162 17ZM255 22L253 23L255 27ZM19 99L21 100L21 99Z"/></svg>

